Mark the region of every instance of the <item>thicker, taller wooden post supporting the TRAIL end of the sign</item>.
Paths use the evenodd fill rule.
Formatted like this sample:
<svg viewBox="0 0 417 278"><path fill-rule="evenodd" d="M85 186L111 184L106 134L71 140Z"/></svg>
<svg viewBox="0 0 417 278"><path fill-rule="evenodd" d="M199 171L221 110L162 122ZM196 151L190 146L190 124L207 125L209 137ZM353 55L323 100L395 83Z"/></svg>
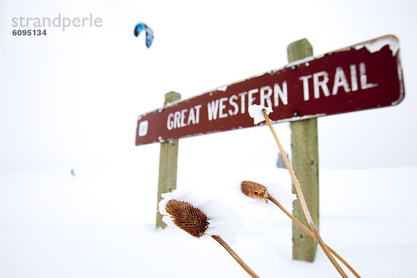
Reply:
<svg viewBox="0 0 417 278"><path fill-rule="evenodd" d="M313 47L306 39L298 40L288 45L287 55L288 62L291 63L295 60L313 56ZM319 229L318 130L316 118L291 122L291 153L294 172L300 181L311 218ZM296 193L294 185L293 193ZM299 199L293 202L293 215L301 220L306 227L309 227ZM293 259L312 262L316 256L316 250L316 240L307 236L293 222Z"/></svg>

